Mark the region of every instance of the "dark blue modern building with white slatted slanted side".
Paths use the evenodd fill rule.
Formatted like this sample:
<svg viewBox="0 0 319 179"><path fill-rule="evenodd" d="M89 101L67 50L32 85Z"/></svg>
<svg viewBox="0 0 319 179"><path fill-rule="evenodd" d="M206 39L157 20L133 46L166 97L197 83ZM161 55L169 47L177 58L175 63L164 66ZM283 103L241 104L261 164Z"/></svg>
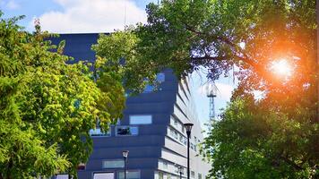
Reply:
<svg viewBox="0 0 319 179"><path fill-rule="evenodd" d="M98 34L62 34L54 44L65 39L65 55L75 60L91 60L91 45ZM190 177L204 179L209 165L203 162L198 144L203 141L201 127L194 112L188 80L178 81L171 70L158 74L160 87L151 86L135 97L128 97L124 118L106 133L91 130L93 152L80 179L124 178L123 150L129 150L127 179L186 178L187 140L183 124L193 123L190 142Z"/></svg>

